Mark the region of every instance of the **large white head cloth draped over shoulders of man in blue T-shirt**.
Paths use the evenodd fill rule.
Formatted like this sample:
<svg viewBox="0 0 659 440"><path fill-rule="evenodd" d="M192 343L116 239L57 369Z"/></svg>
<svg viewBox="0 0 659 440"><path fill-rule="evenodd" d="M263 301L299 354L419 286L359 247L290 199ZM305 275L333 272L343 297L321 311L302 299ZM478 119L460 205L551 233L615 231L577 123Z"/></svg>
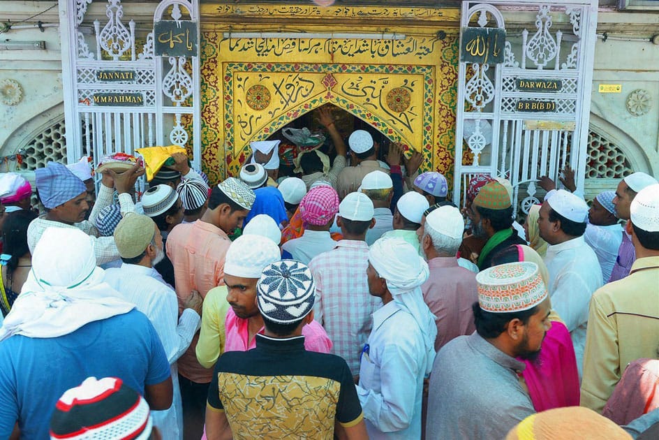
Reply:
<svg viewBox="0 0 659 440"><path fill-rule="evenodd" d="M63 252L66 249L66 252ZM56 257L57 256L57 257ZM135 305L103 282L94 242L73 228L47 228L32 254L32 270L0 329L12 335L59 337Z"/></svg>

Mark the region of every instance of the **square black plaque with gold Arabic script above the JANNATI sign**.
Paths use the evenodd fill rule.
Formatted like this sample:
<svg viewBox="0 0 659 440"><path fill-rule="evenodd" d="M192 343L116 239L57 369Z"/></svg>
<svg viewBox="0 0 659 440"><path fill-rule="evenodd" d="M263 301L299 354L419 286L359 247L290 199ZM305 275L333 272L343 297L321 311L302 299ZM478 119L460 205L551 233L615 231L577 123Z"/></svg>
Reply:
<svg viewBox="0 0 659 440"><path fill-rule="evenodd" d="M154 23L156 57L196 57L197 23L188 20L161 20Z"/></svg>

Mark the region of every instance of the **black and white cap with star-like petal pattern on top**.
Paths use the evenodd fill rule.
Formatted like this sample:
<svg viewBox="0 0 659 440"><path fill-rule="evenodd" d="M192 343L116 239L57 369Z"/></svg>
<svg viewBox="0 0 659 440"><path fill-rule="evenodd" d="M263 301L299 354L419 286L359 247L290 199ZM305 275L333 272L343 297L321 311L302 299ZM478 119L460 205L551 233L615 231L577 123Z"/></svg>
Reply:
<svg viewBox="0 0 659 440"><path fill-rule="evenodd" d="M311 271L297 260L281 260L267 265L256 289L261 314L280 324L301 321L313 308L316 298Z"/></svg>

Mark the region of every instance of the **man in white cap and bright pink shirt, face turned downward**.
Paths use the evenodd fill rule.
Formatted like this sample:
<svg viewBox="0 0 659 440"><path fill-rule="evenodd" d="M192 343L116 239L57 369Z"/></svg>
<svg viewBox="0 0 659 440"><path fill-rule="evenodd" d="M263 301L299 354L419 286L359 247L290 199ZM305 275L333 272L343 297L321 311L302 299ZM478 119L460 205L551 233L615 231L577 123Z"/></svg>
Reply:
<svg viewBox="0 0 659 440"><path fill-rule="evenodd" d="M226 299L230 305L225 318L225 352L256 347L256 335L265 330L256 306L256 283L263 269L279 259L279 247L260 235L242 235L231 244L224 265ZM304 325L302 335L307 351L330 353L332 341L318 321Z"/></svg>

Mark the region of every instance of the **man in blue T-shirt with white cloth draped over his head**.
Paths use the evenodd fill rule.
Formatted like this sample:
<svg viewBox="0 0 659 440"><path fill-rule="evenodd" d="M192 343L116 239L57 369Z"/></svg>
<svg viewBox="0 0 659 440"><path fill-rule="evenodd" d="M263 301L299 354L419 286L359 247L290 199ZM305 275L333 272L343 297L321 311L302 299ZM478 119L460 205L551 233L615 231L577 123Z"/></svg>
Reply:
<svg viewBox="0 0 659 440"><path fill-rule="evenodd" d="M31 276L0 329L2 439L16 423L22 439L49 438L57 400L89 376L112 372L151 409L172 404L158 334L103 281L94 245L81 230L59 227L47 228L36 244Z"/></svg>

